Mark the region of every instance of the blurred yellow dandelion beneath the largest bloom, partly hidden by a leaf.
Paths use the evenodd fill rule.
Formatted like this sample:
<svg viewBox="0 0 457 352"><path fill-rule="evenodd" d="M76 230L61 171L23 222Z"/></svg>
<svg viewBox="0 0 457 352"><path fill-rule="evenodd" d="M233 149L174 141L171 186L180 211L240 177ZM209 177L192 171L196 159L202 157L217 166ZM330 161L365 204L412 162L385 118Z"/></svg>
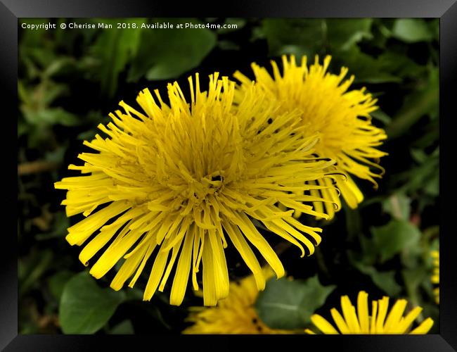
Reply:
<svg viewBox="0 0 457 352"><path fill-rule="evenodd" d="M266 279L273 277L264 270ZM262 322L255 310L259 290L255 277L250 275L230 283L230 294L216 307L191 307L188 321L193 325L183 334L290 334L292 331L271 329Z"/></svg>

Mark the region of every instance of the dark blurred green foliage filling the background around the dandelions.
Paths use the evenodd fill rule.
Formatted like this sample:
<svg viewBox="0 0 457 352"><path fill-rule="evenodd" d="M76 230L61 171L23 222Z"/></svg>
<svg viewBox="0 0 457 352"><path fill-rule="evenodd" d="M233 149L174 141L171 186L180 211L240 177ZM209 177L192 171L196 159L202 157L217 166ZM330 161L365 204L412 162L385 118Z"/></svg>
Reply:
<svg viewBox="0 0 457 352"><path fill-rule="evenodd" d="M108 122L117 102L134 103L139 90L185 84L195 72L231 76L256 61L282 54L333 56L330 71L349 68L353 87L379 99L375 125L385 128L386 169L379 189L358 182L365 201L319 221L323 241L300 258L281 243L288 275L259 294L259 317L274 329L309 327L311 313L338 306L339 298L405 297L424 308L420 319L439 331L430 251L439 248L439 21L437 19L27 19L23 23L105 23L112 29L23 30L19 38L18 277L19 332L176 334L188 326L191 289L184 304L169 306L167 292L150 302L139 289L108 288L77 259L65 241L75 220L65 216L53 182L70 175L82 141ZM117 23L230 24L236 28L117 29ZM263 231L262 229L260 231ZM231 256L231 278L248 274ZM324 288L325 287L325 288ZM319 306L316 306L316 302ZM294 310L281 309L286 303ZM274 307L274 309L272 308ZM278 308L279 307L279 308ZM325 315L324 315L325 316Z"/></svg>

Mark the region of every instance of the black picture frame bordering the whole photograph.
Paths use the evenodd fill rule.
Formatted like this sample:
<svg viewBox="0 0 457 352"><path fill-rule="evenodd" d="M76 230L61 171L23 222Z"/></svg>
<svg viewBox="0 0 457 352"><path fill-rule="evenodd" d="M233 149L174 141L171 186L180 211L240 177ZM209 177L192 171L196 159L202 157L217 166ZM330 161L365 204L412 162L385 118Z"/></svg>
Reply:
<svg viewBox="0 0 457 352"><path fill-rule="evenodd" d="M17 165L15 152L14 116L18 114L18 19L19 18L89 18L89 17L295 17L295 18L439 18L440 20L440 333L421 336L288 336L288 337L224 337L224 336L71 336L71 335L18 335L18 260L14 249L17 241L13 229L4 231L0 242L0 348L4 351L105 351L127 348L148 348L157 344L176 348L184 344L191 351L211 348L232 350L253 339L256 348L262 346L278 348L319 348L321 351L457 351L457 256L456 234L453 233L454 206L457 199L456 187L452 184L453 120L457 109L457 4L456 0L302 0L272 1L250 0L238 2L214 1L200 4L169 2L120 1L120 0L1 0L0 1L0 70L4 137L4 155L12 154L11 165ZM5 109L6 108L6 109ZM8 121L7 121L8 120ZM11 141L8 139L11 138ZM455 138L455 137L454 137ZM8 161L5 161L8 163ZM9 172L8 172L9 173ZM2 177L3 178L3 177ZM12 178L12 177L11 177ZM4 184L10 184L5 177ZM14 184L15 180L11 180ZM4 196L4 220L13 225L13 194ZM14 225L13 225L14 226ZM11 226L11 227L13 227ZM14 227L13 227L14 228ZM284 344L285 343L285 344ZM145 344L145 346L143 346ZM293 345L292 345L293 344Z"/></svg>

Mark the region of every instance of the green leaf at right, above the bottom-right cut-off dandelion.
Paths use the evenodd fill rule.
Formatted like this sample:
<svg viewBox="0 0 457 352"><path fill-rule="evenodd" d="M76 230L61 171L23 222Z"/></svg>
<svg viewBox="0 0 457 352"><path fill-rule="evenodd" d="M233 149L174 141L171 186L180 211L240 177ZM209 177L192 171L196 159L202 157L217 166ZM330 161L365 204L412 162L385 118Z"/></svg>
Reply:
<svg viewBox="0 0 457 352"><path fill-rule="evenodd" d="M385 226L371 227L371 233L381 262L389 260L404 249L417 246L420 239L420 231L416 226L411 222L396 219Z"/></svg>

